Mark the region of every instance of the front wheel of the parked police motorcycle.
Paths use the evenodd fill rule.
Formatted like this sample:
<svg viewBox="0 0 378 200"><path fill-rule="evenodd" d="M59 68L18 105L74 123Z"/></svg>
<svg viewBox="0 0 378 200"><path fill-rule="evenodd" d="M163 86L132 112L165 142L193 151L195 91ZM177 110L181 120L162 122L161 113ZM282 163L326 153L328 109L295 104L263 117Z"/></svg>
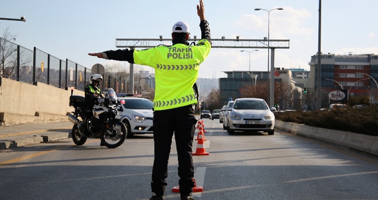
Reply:
<svg viewBox="0 0 378 200"><path fill-rule="evenodd" d="M108 148L119 147L126 138L126 126L119 119L113 119L112 125L101 134L101 143Z"/></svg>

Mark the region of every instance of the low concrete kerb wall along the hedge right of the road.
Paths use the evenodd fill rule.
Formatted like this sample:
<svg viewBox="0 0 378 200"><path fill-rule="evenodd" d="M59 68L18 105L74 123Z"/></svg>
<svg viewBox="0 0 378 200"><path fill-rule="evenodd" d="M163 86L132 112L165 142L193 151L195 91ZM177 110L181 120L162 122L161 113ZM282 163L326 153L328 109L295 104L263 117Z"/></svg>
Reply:
<svg viewBox="0 0 378 200"><path fill-rule="evenodd" d="M310 127L304 124L283 121L276 121L275 127L378 156L378 137L376 136Z"/></svg>

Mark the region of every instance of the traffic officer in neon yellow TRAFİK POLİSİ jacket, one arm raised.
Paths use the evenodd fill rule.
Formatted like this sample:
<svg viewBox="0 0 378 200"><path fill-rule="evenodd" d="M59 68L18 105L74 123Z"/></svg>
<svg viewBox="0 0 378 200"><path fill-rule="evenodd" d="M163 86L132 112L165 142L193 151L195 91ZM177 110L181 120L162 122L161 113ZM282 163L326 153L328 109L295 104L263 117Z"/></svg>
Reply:
<svg viewBox="0 0 378 200"><path fill-rule="evenodd" d="M198 101L193 85L198 78L199 65L211 49L210 29L204 17L202 0L200 5L197 5L197 14L200 17L201 40L195 46L190 46L188 42L190 34L188 24L178 21L172 27L173 46L88 53L99 58L128 61L155 69L153 100L155 159L151 182L153 196L150 200L164 198L173 134L175 134L178 155L180 197L182 200L194 199L191 195L194 187L192 144L197 123L194 106Z"/></svg>

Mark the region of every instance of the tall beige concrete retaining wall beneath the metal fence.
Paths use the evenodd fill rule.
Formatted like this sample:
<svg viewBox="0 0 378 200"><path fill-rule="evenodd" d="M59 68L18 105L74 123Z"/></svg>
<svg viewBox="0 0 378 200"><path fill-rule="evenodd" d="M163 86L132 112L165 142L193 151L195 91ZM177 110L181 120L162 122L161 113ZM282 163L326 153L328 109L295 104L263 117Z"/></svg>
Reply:
<svg viewBox="0 0 378 200"><path fill-rule="evenodd" d="M84 91L74 90L84 96ZM31 85L0 77L0 125L62 122L73 111L71 90L38 82Z"/></svg>

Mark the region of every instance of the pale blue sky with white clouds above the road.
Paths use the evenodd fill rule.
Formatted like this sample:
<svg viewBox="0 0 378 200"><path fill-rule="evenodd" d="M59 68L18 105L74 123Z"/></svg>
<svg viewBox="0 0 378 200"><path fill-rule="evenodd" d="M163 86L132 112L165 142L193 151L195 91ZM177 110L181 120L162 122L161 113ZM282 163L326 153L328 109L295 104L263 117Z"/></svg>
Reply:
<svg viewBox="0 0 378 200"><path fill-rule="evenodd" d="M37 47L57 58L91 68L119 64L87 53L116 50L116 38L170 38L177 21L189 24L191 35L201 35L198 0L4 0L0 36L16 35L15 43ZM290 40L289 49L275 50L275 67L310 70L311 56L318 52L319 0L203 0L211 38ZM378 54L377 0L323 0L321 7L321 52L336 55ZM225 71L268 70L268 50L212 48L200 65L199 78L223 78ZM250 59L249 59L250 55ZM152 67L134 65L134 71Z"/></svg>

